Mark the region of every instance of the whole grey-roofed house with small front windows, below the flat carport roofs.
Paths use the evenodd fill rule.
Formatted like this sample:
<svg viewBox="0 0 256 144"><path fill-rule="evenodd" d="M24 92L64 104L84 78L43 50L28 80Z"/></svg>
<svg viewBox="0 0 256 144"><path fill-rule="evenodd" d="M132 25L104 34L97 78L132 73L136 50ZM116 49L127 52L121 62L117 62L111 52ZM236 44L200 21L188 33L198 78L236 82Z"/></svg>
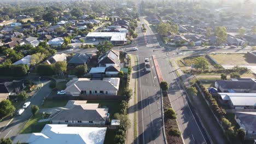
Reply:
<svg viewBox="0 0 256 144"><path fill-rule="evenodd" d="M117 95L120 78L106 77L103 80L90 80L87 78L69 81L65 92L67 95L79 96L80 94Z"/></svg>

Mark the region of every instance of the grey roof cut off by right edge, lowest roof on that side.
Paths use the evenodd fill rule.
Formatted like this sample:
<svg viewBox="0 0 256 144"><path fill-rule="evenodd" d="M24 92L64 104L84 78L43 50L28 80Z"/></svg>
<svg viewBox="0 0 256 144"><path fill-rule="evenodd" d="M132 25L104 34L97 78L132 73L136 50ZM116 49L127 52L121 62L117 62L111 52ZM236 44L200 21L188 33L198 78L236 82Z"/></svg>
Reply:
<svg viewBox="0 0 256 144"><path fill-rule="evenodd" d="M256 112L235 112L235 115L248 131L256 130Z"/></svg>

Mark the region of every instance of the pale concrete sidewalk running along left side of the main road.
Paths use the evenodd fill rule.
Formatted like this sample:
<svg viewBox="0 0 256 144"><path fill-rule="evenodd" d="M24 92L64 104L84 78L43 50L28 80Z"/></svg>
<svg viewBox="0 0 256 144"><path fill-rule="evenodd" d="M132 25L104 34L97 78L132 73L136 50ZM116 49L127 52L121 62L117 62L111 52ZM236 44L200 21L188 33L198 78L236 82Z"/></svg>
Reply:
<svg viewBox="0 0 256 144"><path fill-rule="evenodd" d="M134 125L134 112L136 111L136 107L134 105L136 105L134 103L134 100L135 100L135 94L136 94L136 73L137 73L137 67L136 67L136 62L135 62L135 58L133 55L130 55L131 56L131 67L132 67L132 73L131 73L131 80L130 80L130 89L133 90L133 93L132 93L132 98L130 99L129 101L129 109L127 110L127 113L128 113L128 117L130 119L130 122L131 122L131 126L128 128L127 130L127 139L126 139L126 143L127 144L130 144L130 143L137 143L135 142L135 133L134 133L134 128L135 128L135 125ZM137 125L136 125L137 127ZM137 136L136 136L137 137Z"/></svg>

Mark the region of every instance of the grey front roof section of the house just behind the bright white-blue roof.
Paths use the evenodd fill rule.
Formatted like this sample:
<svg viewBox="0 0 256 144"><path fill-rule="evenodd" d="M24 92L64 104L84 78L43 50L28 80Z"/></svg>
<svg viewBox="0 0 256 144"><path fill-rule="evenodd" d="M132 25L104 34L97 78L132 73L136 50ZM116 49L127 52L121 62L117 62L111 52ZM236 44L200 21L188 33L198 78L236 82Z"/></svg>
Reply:
<svg viewBox="0 0 256 144"><path fill-rule="evenodd" d="M102 112L103 111L103 112ZM55 115L52 121L106 121L108 109L84 109L76 105L73 109L62 110Z"/></svg>

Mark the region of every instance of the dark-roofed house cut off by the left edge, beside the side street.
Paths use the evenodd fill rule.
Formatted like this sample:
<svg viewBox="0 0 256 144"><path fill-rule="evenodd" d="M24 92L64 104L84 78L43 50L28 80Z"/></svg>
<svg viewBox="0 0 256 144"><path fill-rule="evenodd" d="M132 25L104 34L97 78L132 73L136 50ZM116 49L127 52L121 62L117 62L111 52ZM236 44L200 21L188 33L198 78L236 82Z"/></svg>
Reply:
<svg viewBox="0 0 256 144"><path fill-rule="evenodd" d="M0 83L0 100L9 98L9 95L16 95L25 88L23 81L10 81Z"/></svg>

